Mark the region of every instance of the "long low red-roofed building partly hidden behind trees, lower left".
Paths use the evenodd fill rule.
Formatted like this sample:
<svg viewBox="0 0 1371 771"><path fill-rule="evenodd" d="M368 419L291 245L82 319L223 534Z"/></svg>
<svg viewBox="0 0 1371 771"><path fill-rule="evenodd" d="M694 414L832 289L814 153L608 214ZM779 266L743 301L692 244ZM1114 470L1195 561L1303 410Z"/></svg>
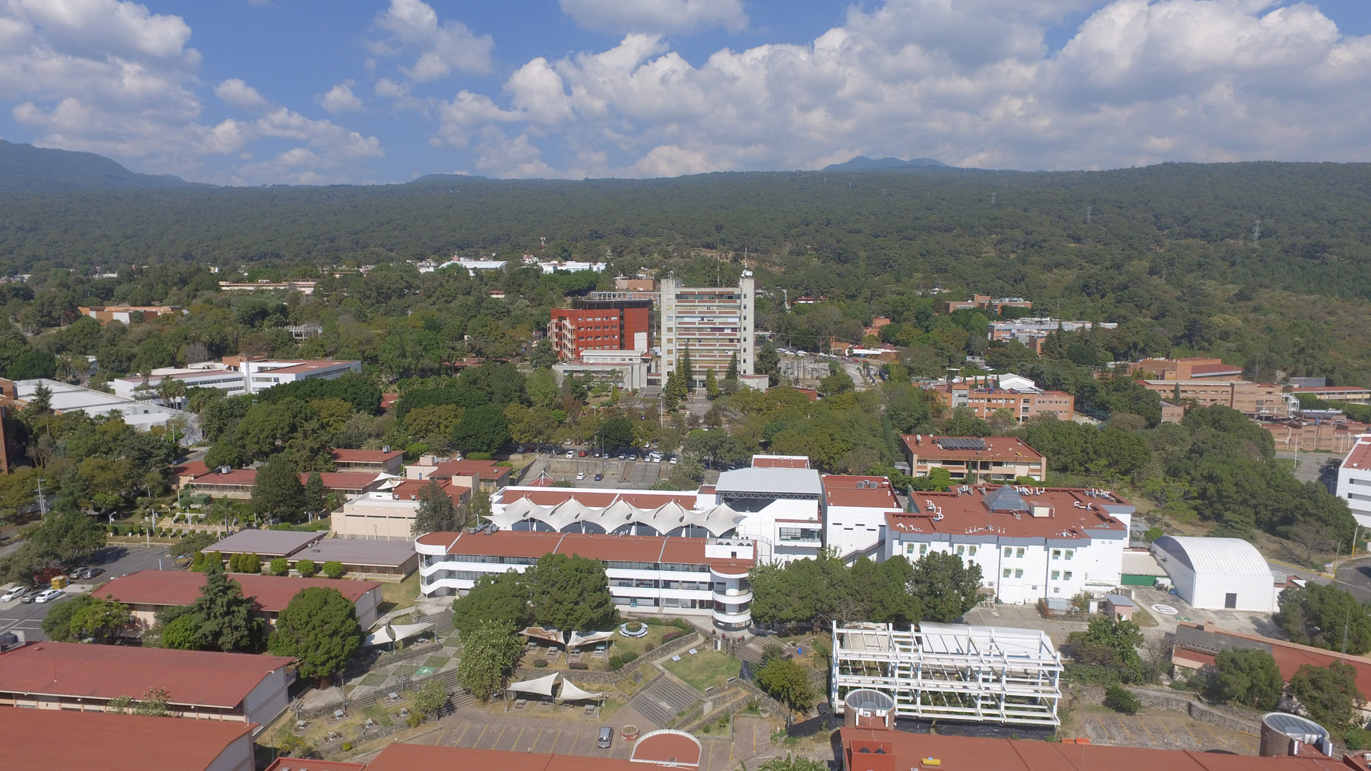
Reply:
<svg viewBox="0 0 1371 771"><path fill-rule="evenodd" d="M377 606L381 604L381 582L376 580L329 580L295 576L265 576L252 573L230 573L243 586L244 597L256 601L258 612L276 626L277 616L300 591L311 587L336 589L356 608L356 619L362 628L376 623ZM96 590L96 597L108 597L123 602L138 623L138 634L152 627L155 615L166 608L184 606L200 597L204 573L191 571L138 571L117 578Z"/></svg>

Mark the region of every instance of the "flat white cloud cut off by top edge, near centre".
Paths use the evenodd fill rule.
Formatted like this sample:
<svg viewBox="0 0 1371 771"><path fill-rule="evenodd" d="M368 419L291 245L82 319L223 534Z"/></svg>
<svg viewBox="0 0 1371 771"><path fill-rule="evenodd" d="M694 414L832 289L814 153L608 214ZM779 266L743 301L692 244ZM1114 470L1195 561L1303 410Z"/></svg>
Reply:
<svg viewBox="0 0 1371 771"><path fill-rule="evenodd" d="M587 29L625 33L747 27L742 0L559 0L562 12Z"/></svg>

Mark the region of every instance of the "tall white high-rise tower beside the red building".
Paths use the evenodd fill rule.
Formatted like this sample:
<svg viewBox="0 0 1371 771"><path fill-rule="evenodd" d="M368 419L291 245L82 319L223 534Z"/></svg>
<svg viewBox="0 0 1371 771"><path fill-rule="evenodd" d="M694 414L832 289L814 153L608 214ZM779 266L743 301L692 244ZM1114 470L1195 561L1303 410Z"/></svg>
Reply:
<svg viewBox="0 0 1371 771"><path fill-rule="evenodd" d="M662 380L676 370L681 353L690 351L695 383L705 383L713 369L723 380L728 362L738 354L738 373L753 375L757 289L744 273L736 287L683 287L662 278Z"/></svg>

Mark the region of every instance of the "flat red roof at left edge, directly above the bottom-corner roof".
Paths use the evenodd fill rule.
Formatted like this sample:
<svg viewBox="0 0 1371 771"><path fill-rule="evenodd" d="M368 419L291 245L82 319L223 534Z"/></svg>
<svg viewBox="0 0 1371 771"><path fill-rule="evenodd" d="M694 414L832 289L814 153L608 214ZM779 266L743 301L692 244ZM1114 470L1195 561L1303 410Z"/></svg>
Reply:
<svg viewBox="0 0 1371 771"><path fill-rule="evenodd" d="M167 690L171 704L233 709L285 656L37 642L0 654L0 691L95 698Z"/></svg>

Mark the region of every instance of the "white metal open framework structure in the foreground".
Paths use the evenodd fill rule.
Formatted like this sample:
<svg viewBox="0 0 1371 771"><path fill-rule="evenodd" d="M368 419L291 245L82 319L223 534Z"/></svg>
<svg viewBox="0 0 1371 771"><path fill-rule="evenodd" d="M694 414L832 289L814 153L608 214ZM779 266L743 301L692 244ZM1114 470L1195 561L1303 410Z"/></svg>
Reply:
<svg viewBox="0 0 1371 771"><path fill-rule="evenodd" d="M895 700L901 717L1060 726L1061 656L1039 630L923 623L834 621L829 700L872 689Z"/></svg>

